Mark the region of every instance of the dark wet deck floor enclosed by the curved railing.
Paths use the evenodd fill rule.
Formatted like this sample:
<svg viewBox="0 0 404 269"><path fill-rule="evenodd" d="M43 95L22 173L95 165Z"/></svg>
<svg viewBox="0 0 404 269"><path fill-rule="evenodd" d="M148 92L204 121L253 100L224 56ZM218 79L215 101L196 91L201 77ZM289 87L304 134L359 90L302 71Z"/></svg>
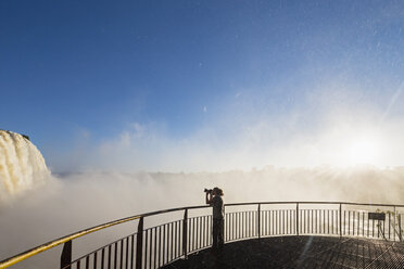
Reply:
<svg viewBox="0 0 404 269"><path fill-rule="evenodd" d="M404 243L370 239L283 236L203 249L173 268L404 268Z"/></svg>

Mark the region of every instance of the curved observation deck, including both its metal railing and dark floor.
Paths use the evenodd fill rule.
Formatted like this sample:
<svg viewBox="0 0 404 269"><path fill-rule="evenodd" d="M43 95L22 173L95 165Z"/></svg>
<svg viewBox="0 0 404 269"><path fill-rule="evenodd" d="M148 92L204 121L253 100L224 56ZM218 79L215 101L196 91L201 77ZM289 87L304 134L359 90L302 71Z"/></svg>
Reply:
<svg viewBox="0 0 404 269"><path fill-rule="evenodd" d="M211 249L211 210L190 206L114 220L4 259L0 268L29 268L29 257L58 245L61 255L48 252L54 262L41 268L404 268L404 205L226 204L220 252ZM134 232L90 251L72 251L93 241L88 234L124 223Z"/></svg>

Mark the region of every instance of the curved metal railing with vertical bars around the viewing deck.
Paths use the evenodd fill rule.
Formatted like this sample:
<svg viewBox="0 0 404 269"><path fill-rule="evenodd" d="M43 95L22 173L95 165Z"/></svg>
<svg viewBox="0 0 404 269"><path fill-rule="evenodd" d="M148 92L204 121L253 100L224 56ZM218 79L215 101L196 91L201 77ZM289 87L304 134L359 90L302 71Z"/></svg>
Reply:
<svg viewBox="0 0 404 269"><path fill-rule="evenodd" d="M225 242L285 236L363 236L402 241L404 205L344 202L254 202L226 204ZM212 216L198 215L209 206L152 212L75 232L0 261L7 268L63 245L60 268L159 268L212 245ZM184 217L144 228L144 219L184 213ZM195 216L190 216L190 214ZM72 259L72 241L106 228L137 221L137 231Z"/></svg>

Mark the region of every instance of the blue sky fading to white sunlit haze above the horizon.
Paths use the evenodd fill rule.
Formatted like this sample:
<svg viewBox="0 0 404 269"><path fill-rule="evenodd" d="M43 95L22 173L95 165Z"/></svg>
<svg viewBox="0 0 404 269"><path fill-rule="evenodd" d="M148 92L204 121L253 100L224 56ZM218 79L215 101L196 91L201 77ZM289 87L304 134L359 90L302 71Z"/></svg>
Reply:
<svg viewBox="0 0 404 269"><path fill-rule="evenodd" d="M60 171L402 165L403 55L403 1L2 0L0 128Z"/></svg>

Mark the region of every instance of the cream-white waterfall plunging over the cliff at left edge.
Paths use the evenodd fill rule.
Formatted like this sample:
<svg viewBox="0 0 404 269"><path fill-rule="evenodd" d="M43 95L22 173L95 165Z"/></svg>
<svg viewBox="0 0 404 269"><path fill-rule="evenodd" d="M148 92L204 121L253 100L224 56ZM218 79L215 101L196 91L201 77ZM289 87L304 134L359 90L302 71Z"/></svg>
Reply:
<svg viewBox="0 0 404 269"><path fill-rule="evenodd" d="M0 130L0 201L43 182L49 175L42 155L26 137Z"/></svg>

